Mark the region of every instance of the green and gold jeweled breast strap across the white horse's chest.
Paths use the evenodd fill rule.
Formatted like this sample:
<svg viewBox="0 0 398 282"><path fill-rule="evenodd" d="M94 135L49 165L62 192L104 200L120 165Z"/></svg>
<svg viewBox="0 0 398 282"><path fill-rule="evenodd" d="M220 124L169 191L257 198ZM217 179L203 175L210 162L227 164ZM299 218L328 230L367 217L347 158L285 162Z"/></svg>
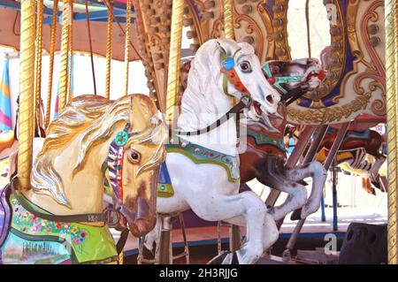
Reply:
<svg viewBox="0 0 398 282"><path fill-rule="evenodd" d="M228 180L230 182L239 181L239 163L236 156L229 156L211 149L207 149L189 141L181 140L181 142L185 142L187 146L182 147L180 144L167 144L167 152L180 153L184 156L187 156L195 164L220 165L226 169Z"/></svg>

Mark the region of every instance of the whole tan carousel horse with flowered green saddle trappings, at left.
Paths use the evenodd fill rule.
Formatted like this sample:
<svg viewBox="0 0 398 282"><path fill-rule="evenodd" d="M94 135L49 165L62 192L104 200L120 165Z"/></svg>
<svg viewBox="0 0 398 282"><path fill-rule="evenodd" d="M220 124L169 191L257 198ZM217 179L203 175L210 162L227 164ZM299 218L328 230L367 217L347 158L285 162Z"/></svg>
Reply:
<svg viewBox="0 0 398 282"><path fill-rule="evenodd" d="M1 193L1 261L117 261L109 225L118 225L121 216L134 236L155 225L166 136L147 95L74 98L50 123L44 142L34 142L34 152L40 152L32 187L18 187L17 171L11 188ZM111 210L103 210L104 182L113 190Z"/></svg>

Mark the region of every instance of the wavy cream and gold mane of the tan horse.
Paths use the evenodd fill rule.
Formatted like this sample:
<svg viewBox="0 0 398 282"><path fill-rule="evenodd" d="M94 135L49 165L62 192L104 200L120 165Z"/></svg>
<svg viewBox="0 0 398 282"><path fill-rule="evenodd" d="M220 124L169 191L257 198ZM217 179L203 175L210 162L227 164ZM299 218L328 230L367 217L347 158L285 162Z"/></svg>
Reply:
<svg viewBox="0 0 398 282"><path fill-rule="evenodd" d="M91 148L111 136L113 125L128 120L130 96L109 101L100 96L81 95L74 98L57 116L47 130L41 152L32 170L31 183L38 194L50 194L58 203L69 206L65 198L62 179L54 168L57 154L53 149L66 149L70 141L78 138L79 152L74 163L73 175L80 171Z"/></svg>

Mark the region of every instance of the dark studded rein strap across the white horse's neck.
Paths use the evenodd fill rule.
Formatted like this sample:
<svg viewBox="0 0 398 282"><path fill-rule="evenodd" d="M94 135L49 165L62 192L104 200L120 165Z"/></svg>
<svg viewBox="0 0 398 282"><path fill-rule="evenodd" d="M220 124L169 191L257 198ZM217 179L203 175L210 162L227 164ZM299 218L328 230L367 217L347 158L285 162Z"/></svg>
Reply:
<svg viewBox="0 0 398 282"><path fill-rule="evenodd" d="M239 114L241 112L241 110L248 107L250 103L251 103L250 96L243 95L241 97L241 101L239 101L239 103L235 104L231 108L231 110L227 111L226 114L224 114L221 118L218 118L215 122L213 122L210 126L207 126L206 128L198 129L197 131L189 131L189 132L176 131L173 129L170 129L170 131L171 131L172 135L186 135L186 136L200 135L203 133L208 133L211 130L217 128L218 126L221 126L222 124L224 124L229 118L234 117L235 114Z"/></svg>

